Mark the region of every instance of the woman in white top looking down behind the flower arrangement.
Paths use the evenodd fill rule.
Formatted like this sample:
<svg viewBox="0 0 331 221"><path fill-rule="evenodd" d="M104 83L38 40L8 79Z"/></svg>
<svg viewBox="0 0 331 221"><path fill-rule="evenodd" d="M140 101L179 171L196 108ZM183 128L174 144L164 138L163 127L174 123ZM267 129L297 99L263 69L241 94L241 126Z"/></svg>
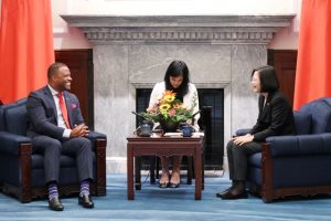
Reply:
<svg viewBox="0 0 331 221"><path fill-rule="evenodd" d="M193 112L199 110L197 91L193 84L190 83L190 73L186 64L182 61L173 61L168 66L164 75L164 81L157 83L150 95L149 106L154 106L159 98L163 96L166 91L175 93L175 98L180 99L188 108L193 108ZM199 129L197 119L200 115L195 115L193 119L193 127ZM172 173L169 172L169 161L172 158ZM181 156L161 157L162 176L159 180L160 188L178 188L180 186L180 164Z"/></svg>

